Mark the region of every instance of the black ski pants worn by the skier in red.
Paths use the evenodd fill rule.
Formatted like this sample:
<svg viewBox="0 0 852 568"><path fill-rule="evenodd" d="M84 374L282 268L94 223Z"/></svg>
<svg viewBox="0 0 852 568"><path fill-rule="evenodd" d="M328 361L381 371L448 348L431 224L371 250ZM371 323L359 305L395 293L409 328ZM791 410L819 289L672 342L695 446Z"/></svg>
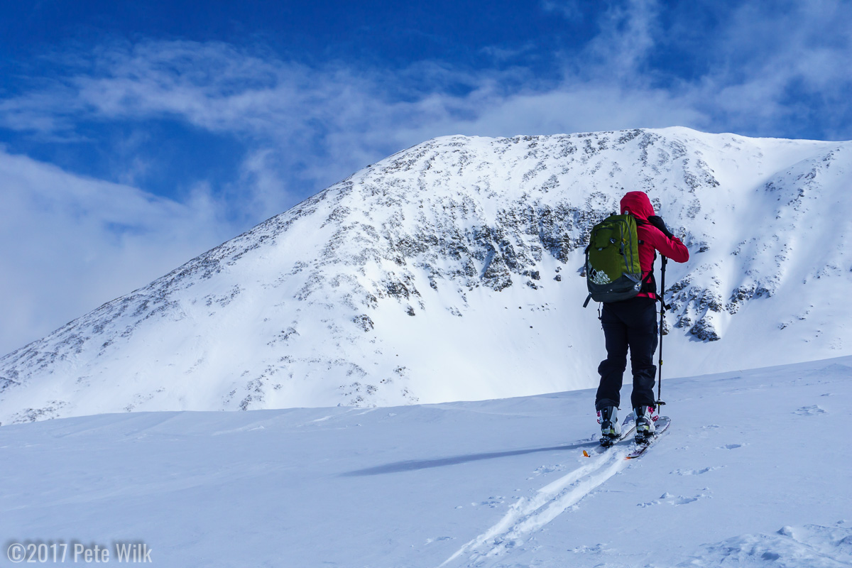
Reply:
<svg viewBox="0 0 852 568"><path fill-rule="evenodd" d="M620 406L628 348L633 371L630 404L632 408L655 404L653 385L657 367L653 364L653 353L657 350L658 341L656 306L653 298L644 297L603 305L601 324L607 342L607 359L601 361L597 368L601 384L597 387L596 410Z"/></svg>

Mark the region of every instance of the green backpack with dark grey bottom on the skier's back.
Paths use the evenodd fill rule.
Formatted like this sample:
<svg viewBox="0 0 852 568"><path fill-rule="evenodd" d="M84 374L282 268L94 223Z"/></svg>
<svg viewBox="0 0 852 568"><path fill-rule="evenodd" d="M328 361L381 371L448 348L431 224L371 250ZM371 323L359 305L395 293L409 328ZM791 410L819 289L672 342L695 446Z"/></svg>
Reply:
<svg viewBox="0 0 852 568"><path fill-rule="evenodd" d="M642 290L639 238L633 215L610 215L595 227L585 250L586 284L594 301L629 300Z"/></svg>

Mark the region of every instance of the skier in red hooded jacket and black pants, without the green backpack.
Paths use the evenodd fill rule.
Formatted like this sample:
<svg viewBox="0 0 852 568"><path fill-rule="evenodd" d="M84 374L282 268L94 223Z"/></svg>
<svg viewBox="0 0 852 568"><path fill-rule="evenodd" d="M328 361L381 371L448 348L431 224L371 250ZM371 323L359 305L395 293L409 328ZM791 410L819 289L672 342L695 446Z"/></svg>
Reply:
<svg viewBox="0 0 852 568"><path fill-rule="evenodd" d="M628 192L621 199L621 214L636 218L639 238L639 265L642 267L642 290L636 297L625 301L603 304L601 324L607 344L607 359L597 368L601 383L597 387L595 408L601 435L615 438L620 434L616 410L621 402L620 390L627 368L627 351L630 350L630 367L633 371L633 393L630 404L636 414L636 439L653 435L653 397L657 367L653 353L657 350L657 285L653 278L653 261L660 254L672 261L686 262L689 250L676 238L659 216L645 192Z"/></svg>

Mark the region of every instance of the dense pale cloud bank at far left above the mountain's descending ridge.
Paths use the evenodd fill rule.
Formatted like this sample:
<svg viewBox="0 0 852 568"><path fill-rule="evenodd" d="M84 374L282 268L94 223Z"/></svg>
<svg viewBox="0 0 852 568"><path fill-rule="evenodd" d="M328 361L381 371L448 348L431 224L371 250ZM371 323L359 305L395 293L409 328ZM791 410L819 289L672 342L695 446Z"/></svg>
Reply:
<svg viewBox="0 0 852 568"><path fill-rule="evenodd" d="M189 204L0 152L0 352L162 276L230 237Z"/></svg>

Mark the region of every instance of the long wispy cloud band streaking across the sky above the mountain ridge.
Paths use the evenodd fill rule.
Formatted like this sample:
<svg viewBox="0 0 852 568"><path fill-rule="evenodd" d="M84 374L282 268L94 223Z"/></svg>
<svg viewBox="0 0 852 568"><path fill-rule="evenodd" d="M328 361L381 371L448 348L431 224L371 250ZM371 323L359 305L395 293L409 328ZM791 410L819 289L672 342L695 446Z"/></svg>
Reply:
<svg viewBox="0 0 852 568"><path fill-rule="evenodd" d="M664 25L656 0L612 3L596 22L597 36L566 56L557 80L518 66L305 66L226 43L112 44L95 50L84 65L68 66L52 89L0 102L0 120L9 129L74 135L87 120L173 119L239 136L247 160L264 149L279 153L268 162L296 184L291 199L302 196L305 186L327 184L333 181L329 175L346 175L429 135L683 121L745 134L773 129L775 121L768 134L783 135L797 112L792 89L819 96L823 104L849 106L841 100L852 77L849 26L838 22L852 21L852 7L812 4L790 3L783 12L764 3L738 4L705 38L702 57L709 63L699 77L679 77L660 66L671 46L667 34L688 29L682 22ZM573 3L547 6L575 9ZM71 60L79 63L80 55ZM613 116L624 122L613 123ZM820 124L812 127L819 130Z"/></svg>

